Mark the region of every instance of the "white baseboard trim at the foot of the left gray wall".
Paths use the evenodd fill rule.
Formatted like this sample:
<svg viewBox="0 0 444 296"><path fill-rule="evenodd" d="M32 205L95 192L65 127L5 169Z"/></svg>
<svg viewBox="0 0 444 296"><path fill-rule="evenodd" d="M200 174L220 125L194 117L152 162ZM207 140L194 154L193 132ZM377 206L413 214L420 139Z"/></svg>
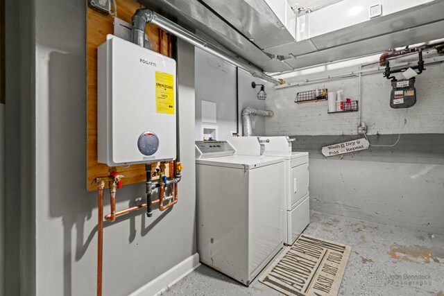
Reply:
<svg viewBox="0 0 444 296"><path fill-rule="evenodd" d="M149 283L135 290L130 296L157 296L165 293L173 284L189 275L190 272L200 266L199 254L189 256L173 268L162 273Z"/></svg>

